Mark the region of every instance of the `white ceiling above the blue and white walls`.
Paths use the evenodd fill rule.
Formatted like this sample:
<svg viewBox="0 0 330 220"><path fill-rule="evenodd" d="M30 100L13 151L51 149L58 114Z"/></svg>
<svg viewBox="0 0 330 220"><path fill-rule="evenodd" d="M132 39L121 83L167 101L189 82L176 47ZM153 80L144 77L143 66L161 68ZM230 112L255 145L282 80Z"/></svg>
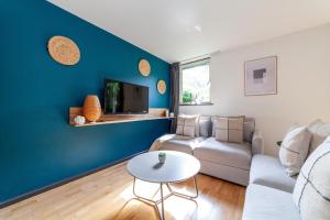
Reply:
<svg viewBox="0 0 330 220"><path fill-rule="evenodd" d="M172 63L330 22L330 0L50 0Z"/></svg>

